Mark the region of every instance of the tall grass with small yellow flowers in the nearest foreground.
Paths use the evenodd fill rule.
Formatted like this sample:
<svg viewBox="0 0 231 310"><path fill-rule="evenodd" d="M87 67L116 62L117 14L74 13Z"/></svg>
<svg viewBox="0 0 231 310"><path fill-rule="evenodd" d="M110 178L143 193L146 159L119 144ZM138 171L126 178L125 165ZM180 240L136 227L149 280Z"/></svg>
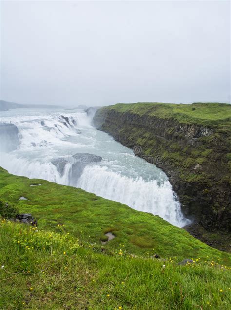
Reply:
<svg viewBox="0 0 231 310"><path fill-rule="evenodd" d="M230 309L230 270L209 259L179 266L79 244L3 221L0 309Z"/></svg>

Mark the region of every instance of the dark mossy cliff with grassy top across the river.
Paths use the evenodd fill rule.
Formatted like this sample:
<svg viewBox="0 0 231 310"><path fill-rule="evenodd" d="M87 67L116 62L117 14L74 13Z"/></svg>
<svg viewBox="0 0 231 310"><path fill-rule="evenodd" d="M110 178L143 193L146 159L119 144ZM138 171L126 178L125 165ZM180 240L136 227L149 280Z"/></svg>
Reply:
<svg viewBox="0 0 231 310"><path fill-rule="evenodd" d="M230 230L231 105L116 104L98 109L93 123L125 146L140 146L137 155L166 172L188 218Z"/></svg>

